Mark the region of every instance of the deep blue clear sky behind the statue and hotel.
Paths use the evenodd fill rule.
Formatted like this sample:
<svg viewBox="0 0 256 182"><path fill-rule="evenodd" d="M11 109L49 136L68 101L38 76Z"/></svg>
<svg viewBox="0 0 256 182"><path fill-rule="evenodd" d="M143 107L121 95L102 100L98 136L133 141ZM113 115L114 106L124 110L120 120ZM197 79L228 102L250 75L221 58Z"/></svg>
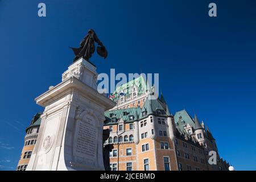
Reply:
<svg viewBox="0 0 256 182"><path fill-rule="evenodd" d="M255 20L255 0L0 0L0 170L15 169L24 130L43 111L34 98L61 81L73 59L68 47L89 28L109 52L93 55L98 73L159 73L171 112L196 113L224 159L255 170Z"/></svg>

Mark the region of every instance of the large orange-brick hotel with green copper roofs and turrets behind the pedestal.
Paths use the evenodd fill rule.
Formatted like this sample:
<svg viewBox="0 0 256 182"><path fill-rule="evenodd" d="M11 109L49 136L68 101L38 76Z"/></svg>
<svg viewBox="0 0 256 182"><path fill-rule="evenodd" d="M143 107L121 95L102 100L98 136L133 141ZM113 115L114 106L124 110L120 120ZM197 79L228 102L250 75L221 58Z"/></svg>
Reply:
<svg viewBox="0 0 256 182"><path fill-rule="evenodd" d="M153 99L154 86L142 76L119 86L110 95L117 103L105 111L104 129L110 130L105 144L112 143L113 171L209 171L228 170L220 158L210 130L186 110L172 114L162 94ZM26 129L24 147L16 170L26 170L40 127L36 114ZM209 164L209 152L216 151L217 164Z"/></svg>

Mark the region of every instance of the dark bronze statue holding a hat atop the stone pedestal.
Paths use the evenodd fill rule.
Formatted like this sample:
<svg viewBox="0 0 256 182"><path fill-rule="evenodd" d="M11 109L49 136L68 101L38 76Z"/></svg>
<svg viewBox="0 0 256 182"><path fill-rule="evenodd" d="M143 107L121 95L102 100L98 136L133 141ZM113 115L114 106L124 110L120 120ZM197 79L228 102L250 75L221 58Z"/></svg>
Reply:
<svg viewBox="0 0 256 182"><path fill-rule="evenodd" d="M83 57L86 61L89 61L90 57L92 57L92 54L95 51L95 42L98 44L98 55L106 59L106 57L108 56L108 51L106 51L105 46L101 43L100 39L98 39L96 32L90 29L85 38L82 39L82 41L80 42L80 48L71 47L76 55L76 57L73 59L73 63L80 57Z"/></svg>

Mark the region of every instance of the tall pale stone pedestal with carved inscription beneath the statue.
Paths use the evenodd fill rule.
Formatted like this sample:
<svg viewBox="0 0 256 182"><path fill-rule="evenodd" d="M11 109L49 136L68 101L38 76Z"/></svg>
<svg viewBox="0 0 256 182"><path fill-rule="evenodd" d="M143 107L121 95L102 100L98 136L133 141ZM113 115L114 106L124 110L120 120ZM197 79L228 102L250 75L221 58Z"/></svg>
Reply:
<svg viewBox="0 0 256 182"><path fill-rule="evenodd" d="M104 111L115 103L97 92L96 67L77 60L35 100L45 110L27 171L104 170Z"/></svg>

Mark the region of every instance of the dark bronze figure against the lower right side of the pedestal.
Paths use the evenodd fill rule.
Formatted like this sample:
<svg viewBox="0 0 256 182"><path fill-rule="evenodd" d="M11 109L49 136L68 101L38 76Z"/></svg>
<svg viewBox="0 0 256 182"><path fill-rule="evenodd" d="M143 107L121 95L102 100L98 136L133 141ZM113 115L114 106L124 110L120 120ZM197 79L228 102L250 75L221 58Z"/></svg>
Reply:
<svg viewBox="0 0 256 182"><path fill-rule="evenodd" d="M103 130L103 135L102 135L102 142L103 144L105 141L109 138L110 131L109 129ZM113 144L106 144L103 147L103 162L104 162L104 167L106 171L111 171L110 168L110 160L109 160L109 152L112 152L112 149L114 148Z"/></svg>

